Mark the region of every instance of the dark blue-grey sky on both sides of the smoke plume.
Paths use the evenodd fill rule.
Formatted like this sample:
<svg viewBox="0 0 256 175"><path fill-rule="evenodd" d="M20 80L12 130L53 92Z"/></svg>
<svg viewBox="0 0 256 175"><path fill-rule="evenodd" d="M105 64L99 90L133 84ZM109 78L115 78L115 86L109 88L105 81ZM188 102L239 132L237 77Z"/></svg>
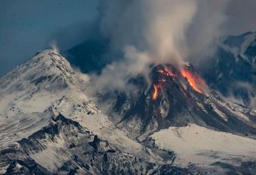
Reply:
<svg viewBox="0 0 256 175"><path fill-rule="evenodd" d="M61 50L84 42L93 35L99 20L99 3L100 0L0 0L0 76L53 42ZM226 16L223 30L227 34L256 31L255 0L230 0Z"/></svg>

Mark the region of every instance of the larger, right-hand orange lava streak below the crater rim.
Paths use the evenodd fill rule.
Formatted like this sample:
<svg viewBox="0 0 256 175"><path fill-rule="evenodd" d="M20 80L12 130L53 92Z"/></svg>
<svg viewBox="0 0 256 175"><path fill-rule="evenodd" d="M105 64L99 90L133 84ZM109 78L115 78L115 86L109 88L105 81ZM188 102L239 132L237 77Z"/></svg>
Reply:
<svg viewBox="0 0 256 175"><path fill-rule="evenodd" d="M198 87L197 83L202 82L203 80L200 77L194 76L192 73L190 73L188 70L182 69L180 70L180 73L188 79L189 85L198 93L203 93L203 90Z"/></svg>

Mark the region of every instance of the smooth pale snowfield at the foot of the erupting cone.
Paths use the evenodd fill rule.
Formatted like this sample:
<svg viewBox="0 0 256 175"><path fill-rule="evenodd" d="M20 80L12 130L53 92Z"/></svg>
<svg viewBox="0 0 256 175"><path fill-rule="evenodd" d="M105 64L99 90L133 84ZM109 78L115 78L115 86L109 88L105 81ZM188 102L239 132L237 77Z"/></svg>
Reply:
<svg viewBox="0 0 256 175"><path fill-rule="evenodd" d="M177 154L175 164L183 166L189 163L211 165L220 160L234 163L239 158L256 158L255 139L194 124L170 127L154 133L151 138L159 148L174 151Z"/></svg>

